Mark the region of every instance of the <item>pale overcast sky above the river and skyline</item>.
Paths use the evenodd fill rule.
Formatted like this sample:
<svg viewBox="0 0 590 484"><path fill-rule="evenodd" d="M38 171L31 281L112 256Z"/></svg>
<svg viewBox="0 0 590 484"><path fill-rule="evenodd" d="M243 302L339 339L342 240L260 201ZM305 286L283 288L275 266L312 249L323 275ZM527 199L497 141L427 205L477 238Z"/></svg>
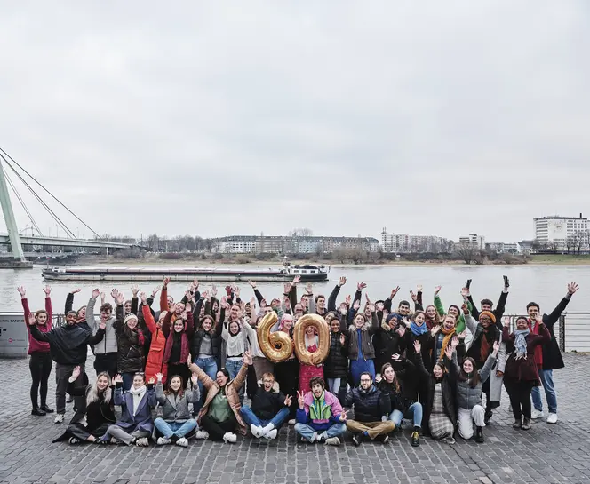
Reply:
<svg viewBox="0 0 590 484"><path fill-rule="evenodd" d="M584 0L4 2L0 147L99 234L531 239L590 214L589 21Z"/></svg>

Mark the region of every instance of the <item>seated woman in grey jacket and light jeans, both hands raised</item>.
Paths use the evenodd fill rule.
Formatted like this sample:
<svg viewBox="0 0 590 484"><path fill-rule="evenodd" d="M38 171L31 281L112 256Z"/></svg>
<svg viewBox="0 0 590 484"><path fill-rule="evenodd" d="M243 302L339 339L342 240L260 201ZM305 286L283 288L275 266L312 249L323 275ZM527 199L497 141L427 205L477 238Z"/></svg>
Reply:
<svg viewBox="0 0 590 484"><path fill-rule="evenodd" d="M163 374L158 373L155 384L155 399L162 406L162 417L154 421L155 428L162 433L162 437L156 440L157 445L176 444L180 447L187 447L187 435L196 428L196 420L191 417L188 411L188 404L195 404L199 401L198 379L193 375L191 382L193 390L185 392L185 384L179 375L171 375L168 387L164 391L162 380Z"/></svg>

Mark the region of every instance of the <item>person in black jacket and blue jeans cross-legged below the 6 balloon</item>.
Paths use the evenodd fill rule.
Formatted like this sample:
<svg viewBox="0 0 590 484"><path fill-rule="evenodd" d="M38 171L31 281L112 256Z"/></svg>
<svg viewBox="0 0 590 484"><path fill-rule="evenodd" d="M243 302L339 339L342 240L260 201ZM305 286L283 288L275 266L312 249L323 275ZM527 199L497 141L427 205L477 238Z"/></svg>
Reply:
<svg viewBox="0 0 590 484"><path fill-rule="evenodd" d="M289 417L291 395L283 395L272 373L264 373L258 385L251 406L242 407L243 421L250 424L252 435L257 439L275 439L279 428Z"/></svg>

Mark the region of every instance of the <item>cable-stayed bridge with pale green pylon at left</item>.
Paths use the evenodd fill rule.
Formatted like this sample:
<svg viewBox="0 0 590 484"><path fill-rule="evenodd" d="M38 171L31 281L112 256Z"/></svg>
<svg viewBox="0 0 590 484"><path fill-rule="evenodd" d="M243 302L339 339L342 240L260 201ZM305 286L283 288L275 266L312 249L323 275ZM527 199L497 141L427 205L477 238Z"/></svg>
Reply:
<svg viewBox="0 0 590 484"><path fill-rule="evenodd" d="M18 170L20 169L20 170ZM24 202L23 198L20 196L19 191L17 190L15 184L13 183L9 170L12 174L16 175L18 179L22 182L24 186L26 186L31 194L33 194L38 202L40 202L44 208L56 221L57 225L62 228L65 234L68 237L51 237L45 236L41 233L39 226L37 226L35 218L33 218L30 210L26 203ZM28 179L31 179L35 182L38 186L40 186L44 192L49 194L52 199L60 204L65 210L68 211L69 214L73 215L79 222L81 222L86 228L90 229L92 233L95 235L96 238L94 239L79 239L77 238L74 233L66 226L63 221L57 216L57 214L49 207L49 205L44 202L44 200L40 197L40 195L34 190L30 184L28 183L28 179L25 177L28 176ZM18 226L16 223L16 218L14 217L14 211L12 210L12 201L11 196L9 193L9 186L12 188L12 193L15 194L17 200L20 202L20 205L25 210L30 219L32 226L36 228L36 232L38 235L21 235ZM0 234L0 246L1 245L10 245L12 252L0 252L0 260L12 260L13 267L30 267L31 265L27 262L28 257L66 257L68 256L69 251L63 251L63 249L81 249L83 252L84 250L93 249L93 250L122 250L122 249L130 249L134 247L131 243L124 243L124 242L111 242L105 240L100 237L90 226L84 223L84 221L77 217L76 214L69 210L66 205L64 205L60 200L58 200L49 190L47 190L41 183L39 183L35 177L33 177L28 171L26 171L19 163L17 163L11 155L8 155L4 151L4 149L0 148L0 204L2 205L2 211L4 214L4 220L6 222L6 228L8 230L8 234ZM25 253L22 246L34 246L34 247L52 247L52 249L60 248L59 252L27 252ZM76 254L76 250L73 251L73 255Z"/></svg>

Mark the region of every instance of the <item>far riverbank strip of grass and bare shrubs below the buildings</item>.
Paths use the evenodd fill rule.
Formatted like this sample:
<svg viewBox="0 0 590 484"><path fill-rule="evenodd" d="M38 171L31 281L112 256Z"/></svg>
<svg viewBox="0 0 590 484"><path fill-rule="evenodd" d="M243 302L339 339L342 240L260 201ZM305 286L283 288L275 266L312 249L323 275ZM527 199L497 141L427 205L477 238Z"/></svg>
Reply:
<svg viewBox="0 0 590 484"><path fill-rule="evenodd" d="M333 267L347 266L466 266L465 261L458 259L441 260L439 258L425 260L411 260L395 258L392 260L334 260L331 258L293 258L291 264L323 264ZM252 265L252 266L282 266L283 258L259 258L246 254L213 254L203 257L203 254L146 254L142 258L120 258L116 256L83 256L76 260L76 266L222 266L222 265ZM52 265L50 263L50 265ZM55 264L60 265L60 264ZM478 266L522 266L522 265L551 265L551 266L589 266L590 256L567 254L539 254L533 256L510 259L487 260ZM474 266L474 264L472 264Z"/></svg>

